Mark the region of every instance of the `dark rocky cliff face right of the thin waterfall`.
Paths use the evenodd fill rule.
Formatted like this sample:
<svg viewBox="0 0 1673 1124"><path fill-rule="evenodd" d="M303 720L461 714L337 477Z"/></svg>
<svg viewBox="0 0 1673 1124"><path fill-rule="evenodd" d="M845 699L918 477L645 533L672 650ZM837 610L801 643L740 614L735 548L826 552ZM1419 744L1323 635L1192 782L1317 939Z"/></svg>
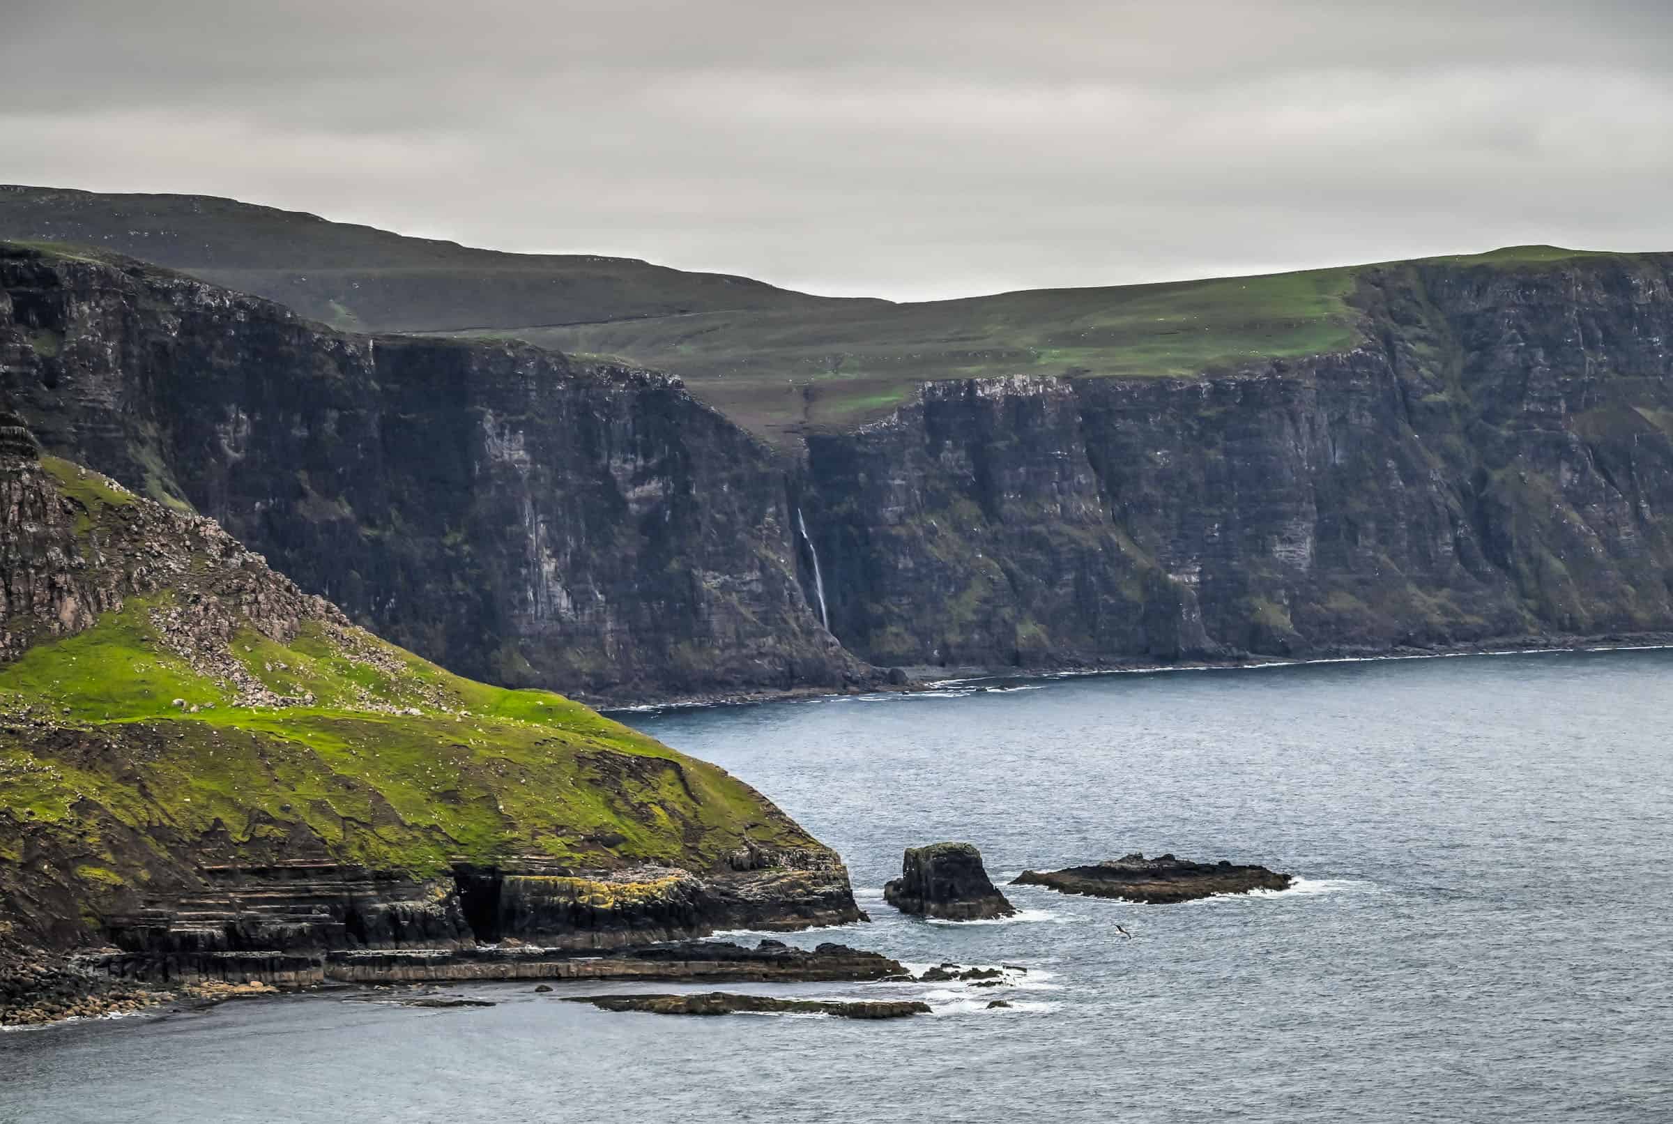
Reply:
<svg viewBox="0 0 1673 1124"><path fill-rule="evenodd" d="M1389 268L1345 355L925 385L810 438L831 631L1022 666L1668 631L1668 279Z"/></svg>

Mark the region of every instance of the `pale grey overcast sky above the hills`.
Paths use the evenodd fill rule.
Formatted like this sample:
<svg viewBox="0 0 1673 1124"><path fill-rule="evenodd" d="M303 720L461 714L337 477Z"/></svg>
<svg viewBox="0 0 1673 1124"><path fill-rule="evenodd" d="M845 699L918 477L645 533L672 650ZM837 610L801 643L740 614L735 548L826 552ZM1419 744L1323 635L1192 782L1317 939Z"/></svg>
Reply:
<svg viewBox="0 0 1673 1124"><path fill-rule="evenodd" d="M0 0L0 182L897 299L1673 249L1673 3Z"/></svg>

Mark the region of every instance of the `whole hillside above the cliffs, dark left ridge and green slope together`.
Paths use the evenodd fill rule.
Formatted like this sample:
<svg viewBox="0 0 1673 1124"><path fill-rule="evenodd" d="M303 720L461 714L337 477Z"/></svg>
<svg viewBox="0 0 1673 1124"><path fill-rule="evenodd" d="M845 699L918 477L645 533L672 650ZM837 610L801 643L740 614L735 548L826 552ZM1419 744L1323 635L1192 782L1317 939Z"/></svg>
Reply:
<svg viewBox="0 0 1673 1124"><path fill-rule="evenodd" d="M831 299L641 261L530 256L402 238L199 196L0 187L0 239L115 249L365 331L515 338L621 356L776 445L852 432L923 381L1054 375L1195 378L1350 351L1362 284L1417 266L1536 273L1648 259L1517 246L1256 278L1029 289L893 304Z"/></svg>

